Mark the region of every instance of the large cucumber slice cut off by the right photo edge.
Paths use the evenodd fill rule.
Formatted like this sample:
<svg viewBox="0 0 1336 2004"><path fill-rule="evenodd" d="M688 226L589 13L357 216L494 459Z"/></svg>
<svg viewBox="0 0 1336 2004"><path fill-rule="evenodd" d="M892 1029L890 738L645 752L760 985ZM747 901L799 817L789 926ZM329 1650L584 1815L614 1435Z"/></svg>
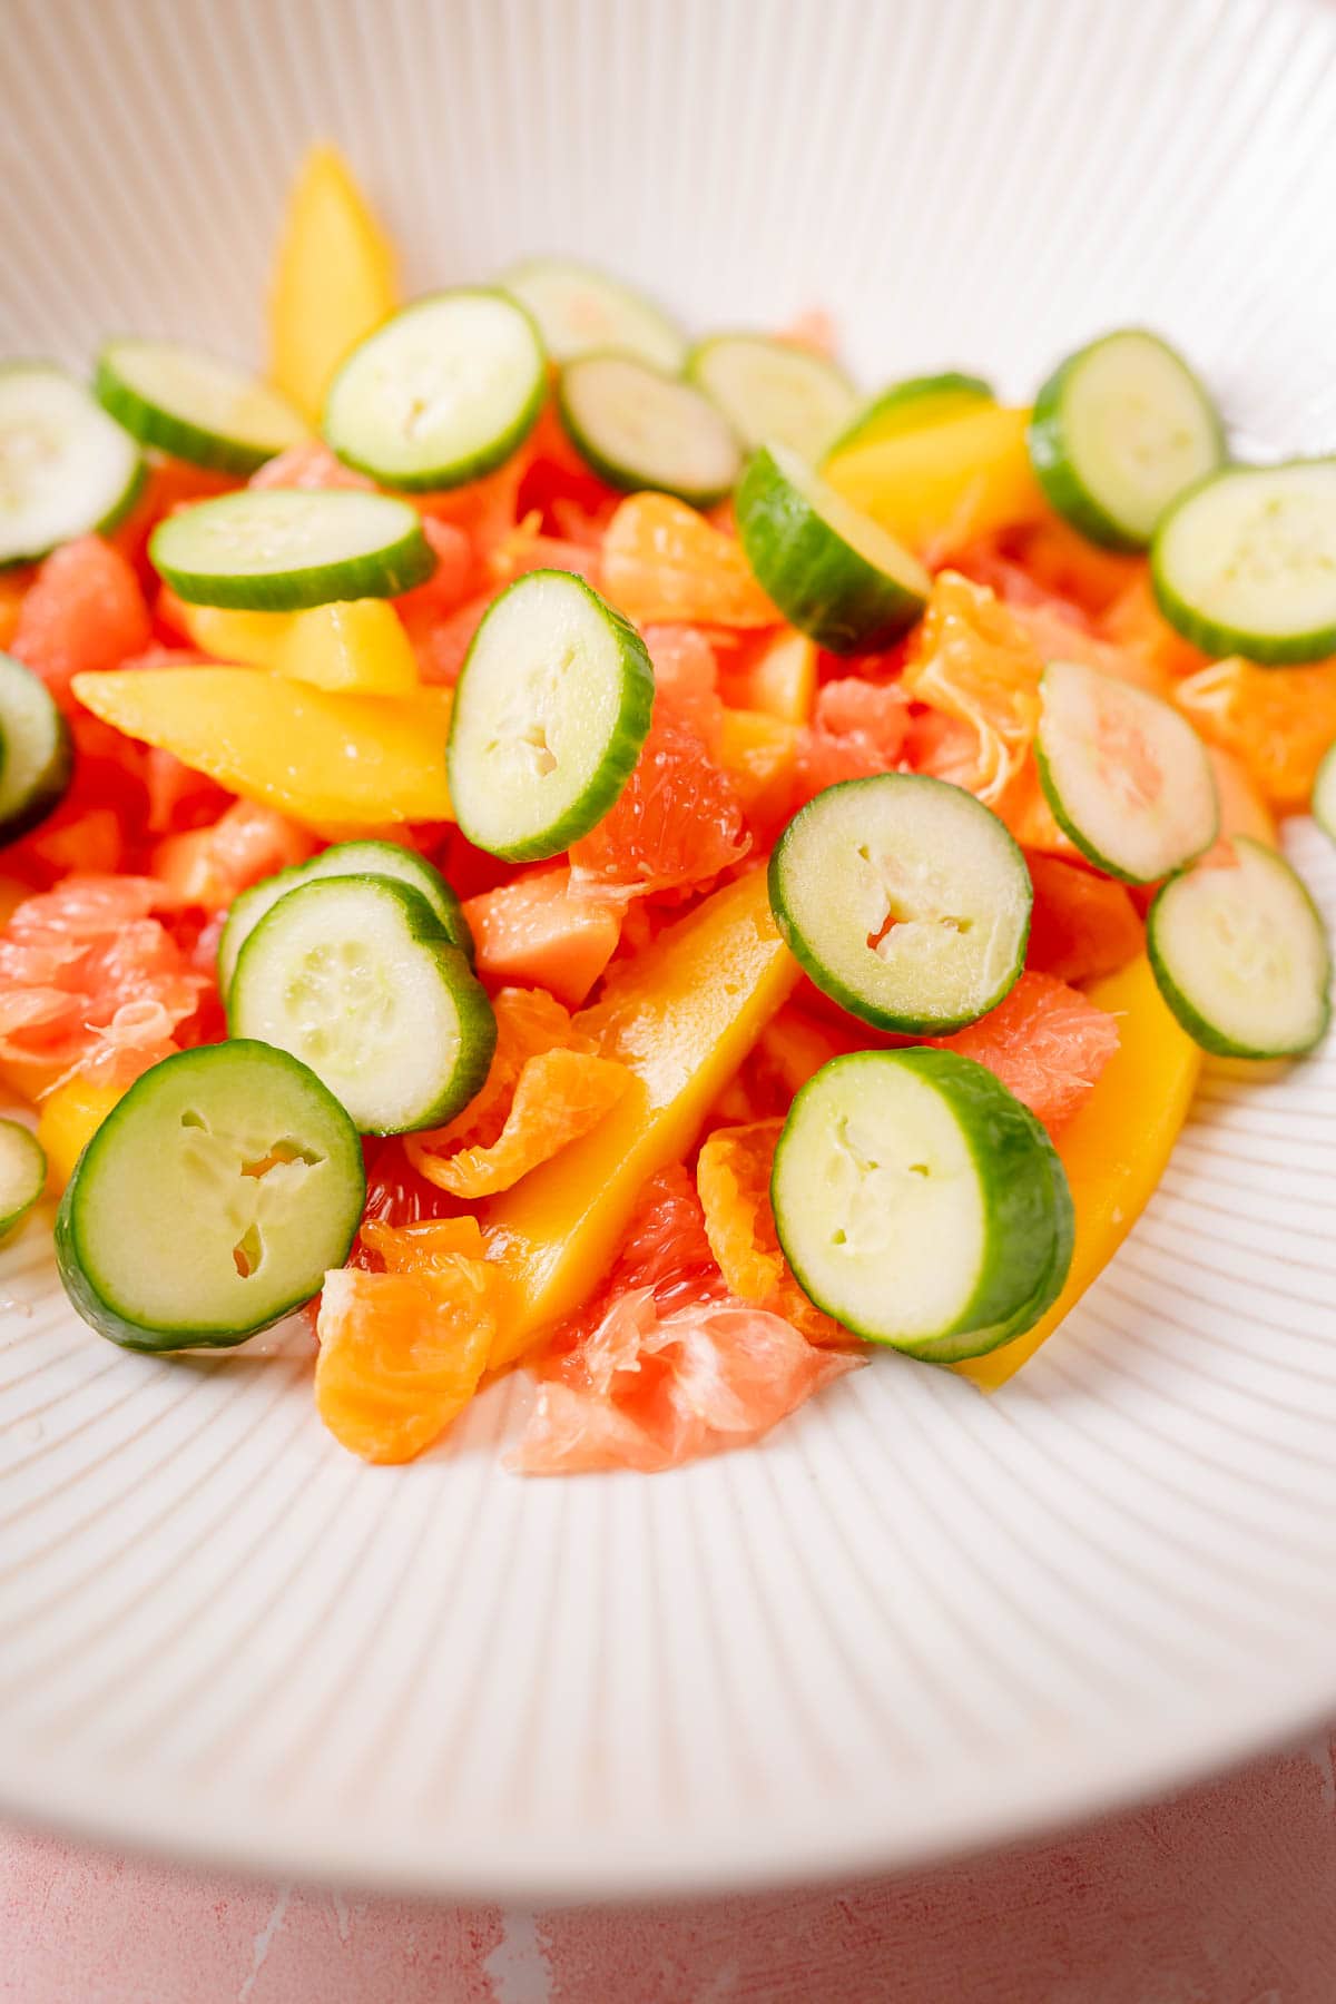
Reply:
<svg viewBox="0 0 1336 2004"><path fill-rule="evenodd" d="M1204 653L1336 653L1336 459L1202 481L1160 523L1150 575L1164 617Z"/></svg>

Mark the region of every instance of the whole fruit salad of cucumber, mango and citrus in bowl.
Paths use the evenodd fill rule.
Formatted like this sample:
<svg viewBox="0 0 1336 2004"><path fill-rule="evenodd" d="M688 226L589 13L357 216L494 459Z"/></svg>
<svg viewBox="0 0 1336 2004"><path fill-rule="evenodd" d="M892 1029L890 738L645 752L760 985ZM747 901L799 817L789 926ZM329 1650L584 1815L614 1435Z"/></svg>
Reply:
<svg viewBox="0 0 1336 2004"><path fill-rule="evenodd" d="M0 369L0 1228L130 1351L304 1319L379 1463L513 1367L531 1475L999 1385L1326 1032L1336 461L1140 329L867 397L395 269L316 148L264 375Z"/></svg>

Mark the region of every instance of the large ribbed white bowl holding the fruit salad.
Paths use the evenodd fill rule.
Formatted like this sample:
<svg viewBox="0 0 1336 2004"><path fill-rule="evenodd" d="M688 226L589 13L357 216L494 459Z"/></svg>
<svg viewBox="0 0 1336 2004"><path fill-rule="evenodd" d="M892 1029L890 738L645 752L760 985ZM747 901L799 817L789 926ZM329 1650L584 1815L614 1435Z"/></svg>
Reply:
<svg viewBox="0 0 1336 2004"><path fill-rule="evenodd" d="M260 345L347 146L415 289L589 253L867 383L1028 393L1150 321L1336 439L1318 0L8 0L0 351ZM1294 854L1336 918L1336 852ZM369 1471L300 1345L122 1355L0 1263L0 1806L284 1874L601 1894L901 1864L1336 1707L1336 1054L1202 1088L991 1403L895 1359L761 1451L513 1481L523 1397ZM162 1230L174 1220L164 1218Z"/></svg>

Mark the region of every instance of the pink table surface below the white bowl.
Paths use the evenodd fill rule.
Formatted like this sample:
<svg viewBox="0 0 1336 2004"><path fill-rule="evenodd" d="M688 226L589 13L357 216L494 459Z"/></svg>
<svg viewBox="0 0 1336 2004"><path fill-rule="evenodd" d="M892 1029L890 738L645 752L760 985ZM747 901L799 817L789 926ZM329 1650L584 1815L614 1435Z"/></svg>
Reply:
<svg viewBox="0 0 1336 2004"><path fill-rule="evenodd" d="M4 2004L1334 2004L1336 1733L849 1888L425 1906L0 1832Z"/></svg>

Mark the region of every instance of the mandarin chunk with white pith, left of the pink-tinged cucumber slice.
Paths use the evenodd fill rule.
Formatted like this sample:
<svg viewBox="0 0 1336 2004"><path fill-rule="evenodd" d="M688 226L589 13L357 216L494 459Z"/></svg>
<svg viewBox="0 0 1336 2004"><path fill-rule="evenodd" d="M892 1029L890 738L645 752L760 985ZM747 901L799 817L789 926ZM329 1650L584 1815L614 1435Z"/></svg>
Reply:
<svg viewBox="0 0 1336 2004"><path fill-rule="evenodd" d="M931 747L919 745L917 770L953 780L995 806L1034 743L1042 673L1044 657L1014 611L959 571L941 571L903 689L971 735L963 760L959 737L947 741L941 764L933 764Z"/></svg>

